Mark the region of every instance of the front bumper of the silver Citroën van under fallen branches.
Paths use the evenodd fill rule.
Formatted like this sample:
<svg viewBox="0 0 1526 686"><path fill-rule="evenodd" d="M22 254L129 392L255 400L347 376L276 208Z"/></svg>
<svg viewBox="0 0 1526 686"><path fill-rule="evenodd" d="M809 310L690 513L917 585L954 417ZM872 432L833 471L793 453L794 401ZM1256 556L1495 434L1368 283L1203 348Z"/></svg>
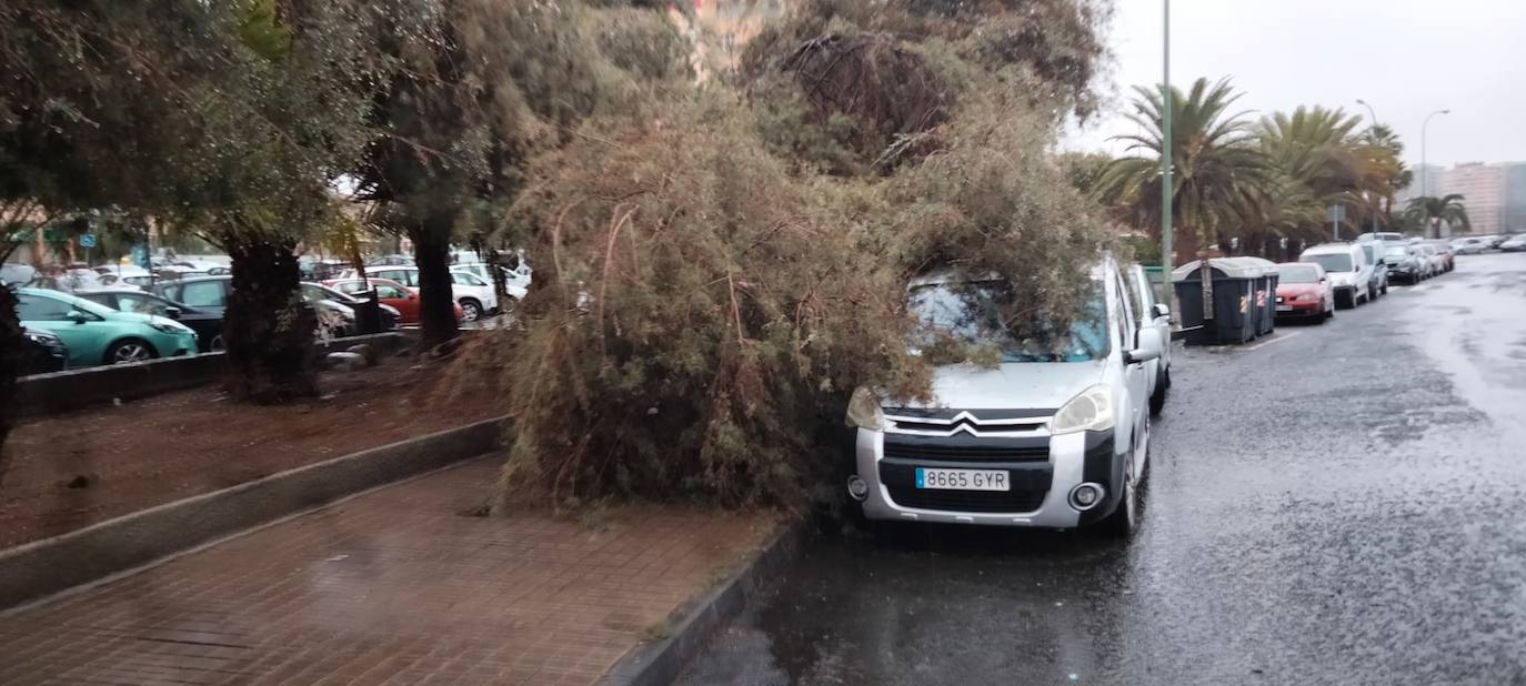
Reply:
<svg viewBox="0 0 1526 686"><path fill-rule="evenodd" d="M1102 520L1119 505L1117 488L1122 483L1123 456L1117 454L1112 431L1080 431L1048 436L1047 459L913 459L885 454L885 433L867 428L858 430L855 447L856 471L868 483L864 498L864 517L882 521L931 521L946 524L1022 526L1044 529L1073 529ZM938 505L906 505L897 502L925 492L913 491L908 474L917 466L958 470L1007 470L1013 489L1027 489L1029 497L1013 494L1012 502L1024 506L993 512L987 491L937 491ZM1085 512L1070 505L1070 492L1082 483L1097 483L1103 497ZM960 506L961 497L975 503L971 509ZM917 500L926 500L917 497Z"/></svg>

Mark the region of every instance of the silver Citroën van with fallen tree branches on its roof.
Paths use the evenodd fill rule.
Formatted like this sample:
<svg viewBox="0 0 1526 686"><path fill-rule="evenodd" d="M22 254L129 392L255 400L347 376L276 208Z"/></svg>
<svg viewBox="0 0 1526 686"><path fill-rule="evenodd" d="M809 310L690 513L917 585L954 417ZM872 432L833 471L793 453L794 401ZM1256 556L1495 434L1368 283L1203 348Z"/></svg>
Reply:
<svg viewBox="0 0 1526 686"><path fill-rule="evenodd" d="M1112 259L1087 287L1056 329L1009 319L1019 305L1006 280L951 271L913 282L908 305L929 334L995 346L1001 363L937 367L929 402L853 393L848 494L867 518L1132 532L1149 456L1144 363L1166 343L1138 326Z"/></svg>

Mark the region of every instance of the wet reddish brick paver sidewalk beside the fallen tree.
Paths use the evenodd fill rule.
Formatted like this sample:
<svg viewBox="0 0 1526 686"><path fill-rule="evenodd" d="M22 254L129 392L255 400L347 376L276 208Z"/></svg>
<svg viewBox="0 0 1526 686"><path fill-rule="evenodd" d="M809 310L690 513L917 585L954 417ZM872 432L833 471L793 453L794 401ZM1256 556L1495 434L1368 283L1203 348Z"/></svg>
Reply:
<svg viewBox="0 0 1526 686"><path fill-rule="evenodd" d="M588 684L769 515L465 517L476 460L0 614L0 684Z"/></svg>

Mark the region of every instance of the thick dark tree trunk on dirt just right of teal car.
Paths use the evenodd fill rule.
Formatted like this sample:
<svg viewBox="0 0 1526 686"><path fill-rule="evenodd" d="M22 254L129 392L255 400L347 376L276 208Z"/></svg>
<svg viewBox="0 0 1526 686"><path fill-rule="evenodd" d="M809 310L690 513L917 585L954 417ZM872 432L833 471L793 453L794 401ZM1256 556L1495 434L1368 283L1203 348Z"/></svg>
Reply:
<svg viewBox="0 0 1526 686"><path fill-rule="evenodd" d="M293 241L230 239L233 291L223 314L224 387L238 399L287 402L317 395L317 316L298 293Z"/></svg>

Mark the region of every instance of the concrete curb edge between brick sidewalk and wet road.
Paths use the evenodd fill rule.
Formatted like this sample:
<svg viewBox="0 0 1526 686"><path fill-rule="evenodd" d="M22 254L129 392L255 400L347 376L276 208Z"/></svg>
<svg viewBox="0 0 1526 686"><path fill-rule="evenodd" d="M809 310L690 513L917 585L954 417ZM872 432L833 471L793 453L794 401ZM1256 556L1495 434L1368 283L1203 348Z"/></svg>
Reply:
<svg viewBox="0 0 1526 686"><path fill-rule="evenodd" d="M803 547L810 526L804 518L790 520L748 563L746 569L726 579L697 602L688 602L668 617L673 631L668 637L638 645L626 652L615 666L600 678L601 686L658 686L678 678L684 665L693 659L705 640L748 605L748 596L795 559Z"/></svg>

